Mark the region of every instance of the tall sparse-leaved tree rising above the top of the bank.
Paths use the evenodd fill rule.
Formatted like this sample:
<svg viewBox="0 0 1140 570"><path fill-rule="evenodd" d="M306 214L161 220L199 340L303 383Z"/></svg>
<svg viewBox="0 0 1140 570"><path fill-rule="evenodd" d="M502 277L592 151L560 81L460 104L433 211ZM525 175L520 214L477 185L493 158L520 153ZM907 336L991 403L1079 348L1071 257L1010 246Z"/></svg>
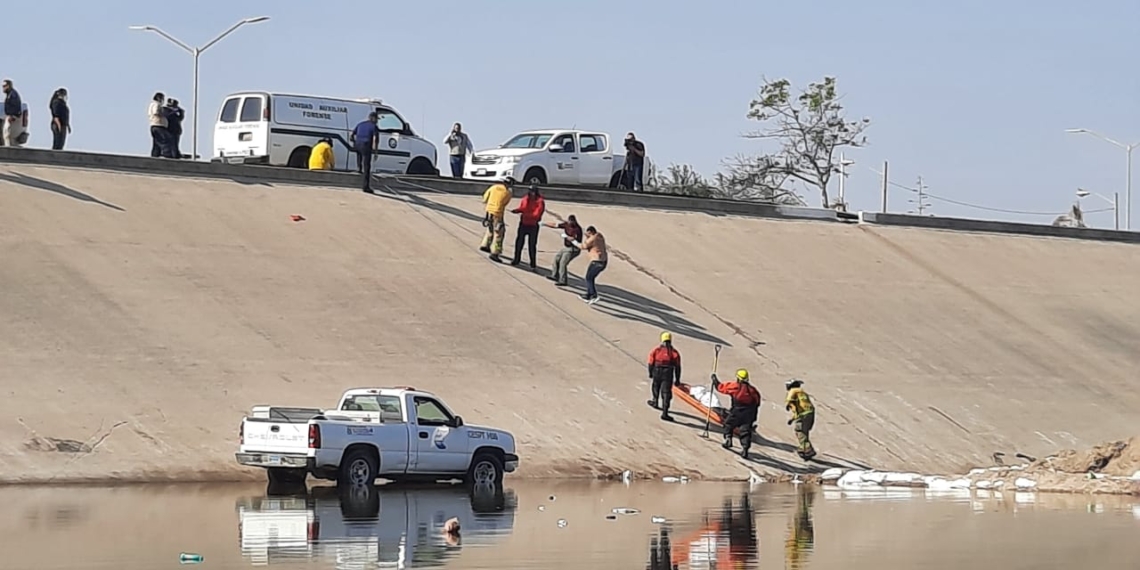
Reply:
<svg viewBox="0 0 1140 570"><path fill-rule="evenodd" d="M822 206L829 207L828 182L837 171L836 149L866 145L863 131L871 124L870 119L848 121L844 111L834 78L811 83L795 96L790 81L765 80L748 111L748 119L763 127L744 137L777 140L781 149L746 158L738 164L738 172L769 184L779 177L799 180L819 190Z"/></svg>

